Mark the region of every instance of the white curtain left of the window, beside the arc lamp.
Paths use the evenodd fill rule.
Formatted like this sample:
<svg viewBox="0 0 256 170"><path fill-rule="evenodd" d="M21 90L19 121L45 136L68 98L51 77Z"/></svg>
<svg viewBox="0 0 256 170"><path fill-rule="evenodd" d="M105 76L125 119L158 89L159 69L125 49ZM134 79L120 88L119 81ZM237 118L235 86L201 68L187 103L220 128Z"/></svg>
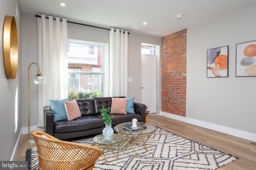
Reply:
<svg viewBox="0 0 256 170"><path fill-rule="evenodd" d="M45 84L38 84L38 126L44 126L43 107L49 99L67 98L68 28L66 19L38 18L38 64L46 77Z"/></svg>

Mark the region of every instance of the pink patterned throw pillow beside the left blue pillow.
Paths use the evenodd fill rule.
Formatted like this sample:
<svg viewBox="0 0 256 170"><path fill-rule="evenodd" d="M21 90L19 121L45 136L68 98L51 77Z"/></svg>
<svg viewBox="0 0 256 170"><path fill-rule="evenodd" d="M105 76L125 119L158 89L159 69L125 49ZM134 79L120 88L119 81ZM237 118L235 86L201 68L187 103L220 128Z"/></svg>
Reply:
<svg viewBox="0 0 256 170"><path fill-rule="evenodd" d="M81 117L80 109L76 100L64 101L68 121Z"/></svg>

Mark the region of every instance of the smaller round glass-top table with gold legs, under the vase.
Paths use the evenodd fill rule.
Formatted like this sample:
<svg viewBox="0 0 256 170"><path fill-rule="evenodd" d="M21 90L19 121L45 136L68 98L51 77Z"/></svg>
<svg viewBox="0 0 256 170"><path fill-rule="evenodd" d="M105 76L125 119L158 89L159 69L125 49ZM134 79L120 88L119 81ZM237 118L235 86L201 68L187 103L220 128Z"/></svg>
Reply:
<svg viewBox="0 0 256 170"><path fill-rule="evenodd" d="M102 161L105 161L105 162L111 162L113 160L118 159L119 148L120 148L120 145L123 141L122 137L120 137L118 134L113 134L113 136L109 140L106 140L104 138L104 136L102 134L100 134L100 135L95 136L93 138L93 141L94 141L96 147L98 147L102 150L104 150L104 148L107 148L106 151L104 150L104 154L102 155L104 157L104 159L99 159L99 160L102 160ZM118 149L117 149L116 152L114 152L112 150L114 145L118 145ZM105 155L107 152L112 152L112 154L114 154L115 158L113 159L112 156L110 156L109 154L108 154L108 158L107 158L106 155Z"/></svg>

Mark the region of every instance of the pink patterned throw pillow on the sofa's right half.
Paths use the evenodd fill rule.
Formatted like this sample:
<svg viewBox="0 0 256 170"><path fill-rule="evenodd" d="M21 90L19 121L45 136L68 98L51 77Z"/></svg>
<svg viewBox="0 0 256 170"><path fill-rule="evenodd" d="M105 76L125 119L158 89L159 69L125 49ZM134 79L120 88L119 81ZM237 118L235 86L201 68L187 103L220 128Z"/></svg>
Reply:
<svg viewBox="0 0 256 170"><path fill-rule="evenodd" d="M112 98L110 114L126 114L128 98Z"/></svg>

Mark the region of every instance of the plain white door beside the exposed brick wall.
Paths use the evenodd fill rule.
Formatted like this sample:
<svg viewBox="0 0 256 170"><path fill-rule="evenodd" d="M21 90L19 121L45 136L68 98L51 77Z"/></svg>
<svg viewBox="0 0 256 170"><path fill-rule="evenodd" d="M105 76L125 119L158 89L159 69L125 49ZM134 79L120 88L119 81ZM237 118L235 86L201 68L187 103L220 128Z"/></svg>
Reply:
<svg viewBox="0 0 256 170"><path fill-rule="evenodd" d="M141 102L156 113L156 56L141 55Z"/></svg>

